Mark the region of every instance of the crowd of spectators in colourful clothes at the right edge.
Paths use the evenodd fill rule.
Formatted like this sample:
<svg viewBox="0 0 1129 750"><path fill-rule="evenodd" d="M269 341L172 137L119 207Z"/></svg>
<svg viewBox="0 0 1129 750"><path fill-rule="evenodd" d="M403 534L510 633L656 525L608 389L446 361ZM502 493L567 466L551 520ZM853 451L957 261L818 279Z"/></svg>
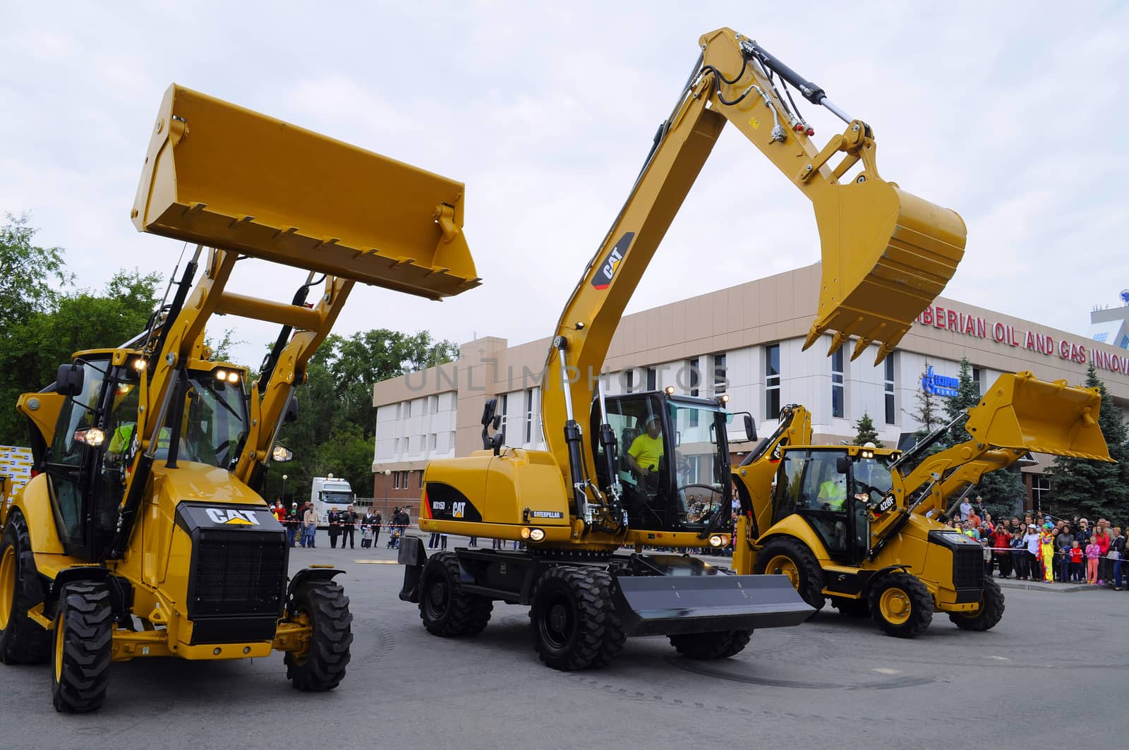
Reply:
<svg viewBox="0 0 1129 750"><path fill-rule="evenodd" d="M984 573L1045 583L1086 583L1123 591L1126 538L1105 518L1057 518L1029 512L1019 520L994 520L981 498L965 500L944 523L983 546Z"/></svg>

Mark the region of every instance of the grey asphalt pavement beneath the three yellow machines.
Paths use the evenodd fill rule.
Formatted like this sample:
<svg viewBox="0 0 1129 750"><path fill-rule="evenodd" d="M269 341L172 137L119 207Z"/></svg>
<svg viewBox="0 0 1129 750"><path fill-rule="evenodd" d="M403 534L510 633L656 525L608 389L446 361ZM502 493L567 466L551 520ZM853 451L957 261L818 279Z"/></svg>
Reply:
<svg viewBox="0 0 1129 750"><path fill-rule="evenodd" d="M1004 620L934 618L882 635L830 607L759 630L736 657L694 662L632 638L607 669L566 673L533 651L527 609L496 604L474 638L430 636L396 598L395 551L296 549L335 564L355 642L341 686L304 694L282 655L114 664L106 705L51 706L46 665L0 665L0 748L1102 748L1122 744L1129 592L1005 591ZM489 540L485 541L489 546ZM454 543L465 540L452 538ZM1067 588L1067 587L1064 587Z"/></svg>

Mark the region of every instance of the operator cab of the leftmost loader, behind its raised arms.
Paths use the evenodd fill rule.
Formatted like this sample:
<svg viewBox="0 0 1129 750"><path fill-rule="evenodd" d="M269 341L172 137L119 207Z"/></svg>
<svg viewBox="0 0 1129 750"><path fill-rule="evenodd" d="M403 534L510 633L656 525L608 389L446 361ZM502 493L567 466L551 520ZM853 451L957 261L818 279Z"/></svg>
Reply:
<svg viewBox="0 0 1129 750"><path fill-rule="evenodd" d="M210 364L210 363L209 363ZM146 363L124 349L81 352L59 368L54 391L67 396L54 439L36 456L47 474L52 511L68 555L100 559L140 446L134 439ZM154 459L230 470L247 434L243 370L184 372L169 387ZM172 460L169 460L172 457Z"/></svg>

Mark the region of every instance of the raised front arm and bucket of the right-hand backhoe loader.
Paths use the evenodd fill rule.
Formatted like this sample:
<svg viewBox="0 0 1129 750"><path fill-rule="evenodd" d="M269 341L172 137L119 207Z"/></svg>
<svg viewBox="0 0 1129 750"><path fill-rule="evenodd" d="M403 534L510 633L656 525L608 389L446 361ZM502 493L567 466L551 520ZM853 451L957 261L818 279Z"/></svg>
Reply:
<svg viewBox="0 0 1129 750"><path fill-rule="evenodd" d="M909 454L893 464L894 507L872 520L872 555L910 513L945 513L954 494L1029 452L1112 461L1097 424L1101 399L1096 387L1040 381L1030 372L1000 375L968 410L964 429L971 439L927 456L905 476L898 466Z"/></svg>

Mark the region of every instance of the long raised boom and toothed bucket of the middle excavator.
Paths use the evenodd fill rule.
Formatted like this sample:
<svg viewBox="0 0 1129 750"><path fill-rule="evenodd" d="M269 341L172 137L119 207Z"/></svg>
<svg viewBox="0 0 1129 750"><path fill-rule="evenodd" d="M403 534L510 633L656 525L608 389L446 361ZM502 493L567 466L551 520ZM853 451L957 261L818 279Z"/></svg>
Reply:
<svg viewBox="0 0 1129 750"><path fill-rule="evenodd" d="M844 116L822 89L732 29L706 34L699 43L701 56L659 128L627 202L569 297L545 363L545 442L566 486L574 488L578 514L589 500L599 504L602 496L584 469L596 464L574 404L585 410L592 402L623 309L726 122L815 209L823 281L805 348L831 331L832 350L857 337L854 356L877 342L881 361L942 291L963 255L960 216L878 176L874 134L866 123ZM846 131L817 148L814 130L781 99L781 80L843 119ZM832 165L840 154L842 159ZM841 183L859 162L861 172Z"/></svg>

